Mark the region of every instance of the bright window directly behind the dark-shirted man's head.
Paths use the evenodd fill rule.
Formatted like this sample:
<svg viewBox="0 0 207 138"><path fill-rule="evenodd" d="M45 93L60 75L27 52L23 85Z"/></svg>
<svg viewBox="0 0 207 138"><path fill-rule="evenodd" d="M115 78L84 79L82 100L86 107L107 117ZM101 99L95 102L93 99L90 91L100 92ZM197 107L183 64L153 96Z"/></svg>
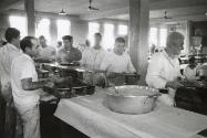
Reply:
<svg viewBox="0 0 207 138"><path fill-rule="evenodd" d="M63 35L71 34L71 22L69 20L56 20L58 41L62 40Z"/></svg>

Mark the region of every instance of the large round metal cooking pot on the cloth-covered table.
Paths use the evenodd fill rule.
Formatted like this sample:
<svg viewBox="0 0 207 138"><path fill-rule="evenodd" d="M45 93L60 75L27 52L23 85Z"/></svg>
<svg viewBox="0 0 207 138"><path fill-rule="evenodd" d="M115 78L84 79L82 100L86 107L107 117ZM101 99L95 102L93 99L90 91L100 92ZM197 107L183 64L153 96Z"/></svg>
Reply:
<svg viewBox="0 0 207 138"><path fill-rule="evenodd" d="M122 114L149 113L159 95L157 89L146 86L125 85L115 88L108 88L105 103L111 110Z"/></svg>

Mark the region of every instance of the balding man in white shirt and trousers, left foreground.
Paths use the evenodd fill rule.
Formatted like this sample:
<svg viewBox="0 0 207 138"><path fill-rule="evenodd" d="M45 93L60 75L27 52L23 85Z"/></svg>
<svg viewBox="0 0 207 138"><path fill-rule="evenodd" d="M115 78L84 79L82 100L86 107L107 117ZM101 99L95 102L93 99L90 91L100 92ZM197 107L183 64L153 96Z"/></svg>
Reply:
<svg viewBox="0 0 207 138"><path fill-rule="evenodd" d="M38 82L32 57L39 54L39 43L25 36L20 47L23 51L12 62L11 86L14 106L23 121L23 138L40 138L39 88L52 86L51 82Z"/></svg>

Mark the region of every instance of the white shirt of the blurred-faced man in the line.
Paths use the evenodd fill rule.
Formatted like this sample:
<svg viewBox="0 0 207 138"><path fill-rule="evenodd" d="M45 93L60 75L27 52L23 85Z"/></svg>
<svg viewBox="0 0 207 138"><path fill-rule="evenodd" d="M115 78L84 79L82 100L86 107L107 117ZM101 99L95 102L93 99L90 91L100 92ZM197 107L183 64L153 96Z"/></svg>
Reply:
<svg viewBox="0 0 207 138"><path fill-rule="evenodd" d="M107 52L104 49L86 49L83 52L81 64L90 70L100 70L101 63Z"/></svg>

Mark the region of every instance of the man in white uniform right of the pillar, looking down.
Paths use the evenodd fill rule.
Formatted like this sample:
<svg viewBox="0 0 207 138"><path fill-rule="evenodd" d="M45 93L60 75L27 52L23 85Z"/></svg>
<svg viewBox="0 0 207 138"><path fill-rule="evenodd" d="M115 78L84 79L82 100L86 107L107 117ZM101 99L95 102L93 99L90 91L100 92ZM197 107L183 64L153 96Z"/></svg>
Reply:
<svg viewBox="0 0 207 138"><path fill-rule="evenodd" d="M178 32L172 32L167 36L166 49L152 56L146 74L146 83L154 88L168 88L168 95L162 95L159 99L167 105L174 105L176 88L183 86L178 81L180 68L178 55L183 49L184 36Z"/></svg>

